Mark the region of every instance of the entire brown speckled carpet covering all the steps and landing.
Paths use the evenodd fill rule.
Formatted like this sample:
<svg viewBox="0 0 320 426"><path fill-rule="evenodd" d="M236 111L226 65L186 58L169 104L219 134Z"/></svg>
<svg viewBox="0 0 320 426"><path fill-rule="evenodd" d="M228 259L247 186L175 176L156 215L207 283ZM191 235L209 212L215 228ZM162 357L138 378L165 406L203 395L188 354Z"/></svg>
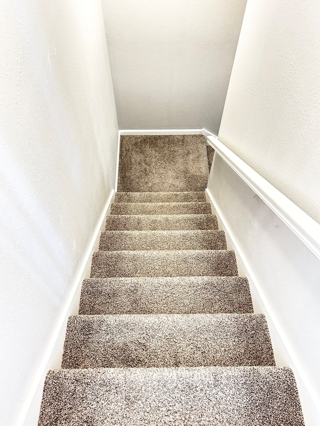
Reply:
<svg viewBox="0 0 320 426"><path fill-rule="evenodd" d="M304 425L206 202L211 154L199 135L121 137L120 191L39 426Z"/></svg>

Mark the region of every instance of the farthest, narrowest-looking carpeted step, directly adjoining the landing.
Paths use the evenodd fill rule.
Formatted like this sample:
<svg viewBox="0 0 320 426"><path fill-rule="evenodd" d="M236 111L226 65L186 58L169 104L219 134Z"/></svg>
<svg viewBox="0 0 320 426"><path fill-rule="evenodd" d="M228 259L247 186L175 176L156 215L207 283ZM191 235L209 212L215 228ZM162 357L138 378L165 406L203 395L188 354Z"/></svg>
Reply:
<svg viewBox="0 0 320 426"><path fill-rule="evenodd" d="M205 194L199 192L116 192L115 203L181 203L205 202Z"/></svg>

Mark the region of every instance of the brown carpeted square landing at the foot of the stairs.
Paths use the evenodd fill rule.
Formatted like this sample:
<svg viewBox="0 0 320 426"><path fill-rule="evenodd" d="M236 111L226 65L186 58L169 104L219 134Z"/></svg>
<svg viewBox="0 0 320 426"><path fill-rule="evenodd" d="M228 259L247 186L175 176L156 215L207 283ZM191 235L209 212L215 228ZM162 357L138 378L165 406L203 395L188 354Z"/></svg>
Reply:
<svg viewBox="0 0 320 426"><path fill-rule="evenodd" d="M208 173L202 135L121 136L119 192L204 191Z"/></svg>

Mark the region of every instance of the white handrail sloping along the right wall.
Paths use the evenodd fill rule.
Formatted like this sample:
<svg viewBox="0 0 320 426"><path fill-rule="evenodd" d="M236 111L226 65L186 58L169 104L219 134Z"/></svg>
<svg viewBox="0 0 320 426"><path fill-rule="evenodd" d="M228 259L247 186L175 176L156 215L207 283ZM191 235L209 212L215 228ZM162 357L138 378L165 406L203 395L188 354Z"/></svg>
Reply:
<svg viewBox="0 0 320 426"><path fill-rule="evenodd" d="M221 141L214 136L208 136L207 139L208 144L212 146L231 169L320 259L320 225L241 160L234 152L223 145Z"/></svg>

